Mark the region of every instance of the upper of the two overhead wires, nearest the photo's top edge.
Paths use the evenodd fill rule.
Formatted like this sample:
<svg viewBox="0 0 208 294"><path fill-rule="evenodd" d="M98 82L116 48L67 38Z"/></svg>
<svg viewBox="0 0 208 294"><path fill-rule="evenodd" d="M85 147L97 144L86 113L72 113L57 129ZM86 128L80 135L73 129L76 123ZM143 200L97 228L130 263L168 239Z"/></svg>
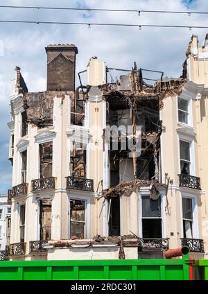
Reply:
<svg viewBox="0 0 208 294"><path fill-rule="evenodd" d="M102 8L70 8L70 7L41 7L41 6L3 6L0 8L45 9L45 10L81 10L81 11L108 11L108 12L148 12L148 13L180 13L186 15L208 15L205 11L177 11L177 10L144 10L144 9L102 9Z"/></svg>

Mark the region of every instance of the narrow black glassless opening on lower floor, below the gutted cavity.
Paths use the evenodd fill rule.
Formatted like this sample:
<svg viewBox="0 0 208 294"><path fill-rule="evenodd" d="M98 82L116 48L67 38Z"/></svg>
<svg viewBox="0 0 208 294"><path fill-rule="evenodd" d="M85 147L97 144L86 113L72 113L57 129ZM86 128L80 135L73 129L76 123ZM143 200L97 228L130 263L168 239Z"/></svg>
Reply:
<svg viewBox="0 0 208 294"><path fill-rule="evenodd" d="M120 236L120 198L119 196L112 197L108 200L109 207L109 236Z"/></svg>

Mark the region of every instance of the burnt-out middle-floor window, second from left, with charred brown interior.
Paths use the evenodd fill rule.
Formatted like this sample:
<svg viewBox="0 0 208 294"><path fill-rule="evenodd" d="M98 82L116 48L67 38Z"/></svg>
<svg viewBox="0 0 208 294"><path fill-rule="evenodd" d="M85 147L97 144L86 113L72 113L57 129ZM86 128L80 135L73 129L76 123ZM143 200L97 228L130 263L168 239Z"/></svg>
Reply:
<svg viewBox="0 0 208 294"><path fill-rule="evenodd" d="M40 144L40 178L52 177L53 143Z"/></svg>

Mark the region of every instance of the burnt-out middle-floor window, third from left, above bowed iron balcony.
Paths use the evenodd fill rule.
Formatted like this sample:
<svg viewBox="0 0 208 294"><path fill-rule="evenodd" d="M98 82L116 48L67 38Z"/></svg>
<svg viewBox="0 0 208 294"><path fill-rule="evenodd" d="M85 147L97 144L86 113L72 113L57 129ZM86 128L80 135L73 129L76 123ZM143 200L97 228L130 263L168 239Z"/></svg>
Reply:
<svg viewBox="0 0 208 294"><path fill-rule="evenodd" d="M72 142L70 170L75 178L85 178L86 175L86 150L82 143Z"/></svg>

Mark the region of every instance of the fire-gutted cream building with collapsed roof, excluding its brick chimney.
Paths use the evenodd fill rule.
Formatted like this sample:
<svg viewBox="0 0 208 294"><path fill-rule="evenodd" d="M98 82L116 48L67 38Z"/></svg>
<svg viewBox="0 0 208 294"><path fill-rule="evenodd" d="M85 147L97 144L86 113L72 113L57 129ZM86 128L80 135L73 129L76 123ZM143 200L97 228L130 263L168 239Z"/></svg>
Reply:
<svg viewBox="0 0 208 294"><path fill-rule="evenodd" d="M191 37L179 78L96 57L76 78L77 53L46 47L44 92L15 69L8 256L155 258L187 245L206 257L207 39Z"/></svg>

